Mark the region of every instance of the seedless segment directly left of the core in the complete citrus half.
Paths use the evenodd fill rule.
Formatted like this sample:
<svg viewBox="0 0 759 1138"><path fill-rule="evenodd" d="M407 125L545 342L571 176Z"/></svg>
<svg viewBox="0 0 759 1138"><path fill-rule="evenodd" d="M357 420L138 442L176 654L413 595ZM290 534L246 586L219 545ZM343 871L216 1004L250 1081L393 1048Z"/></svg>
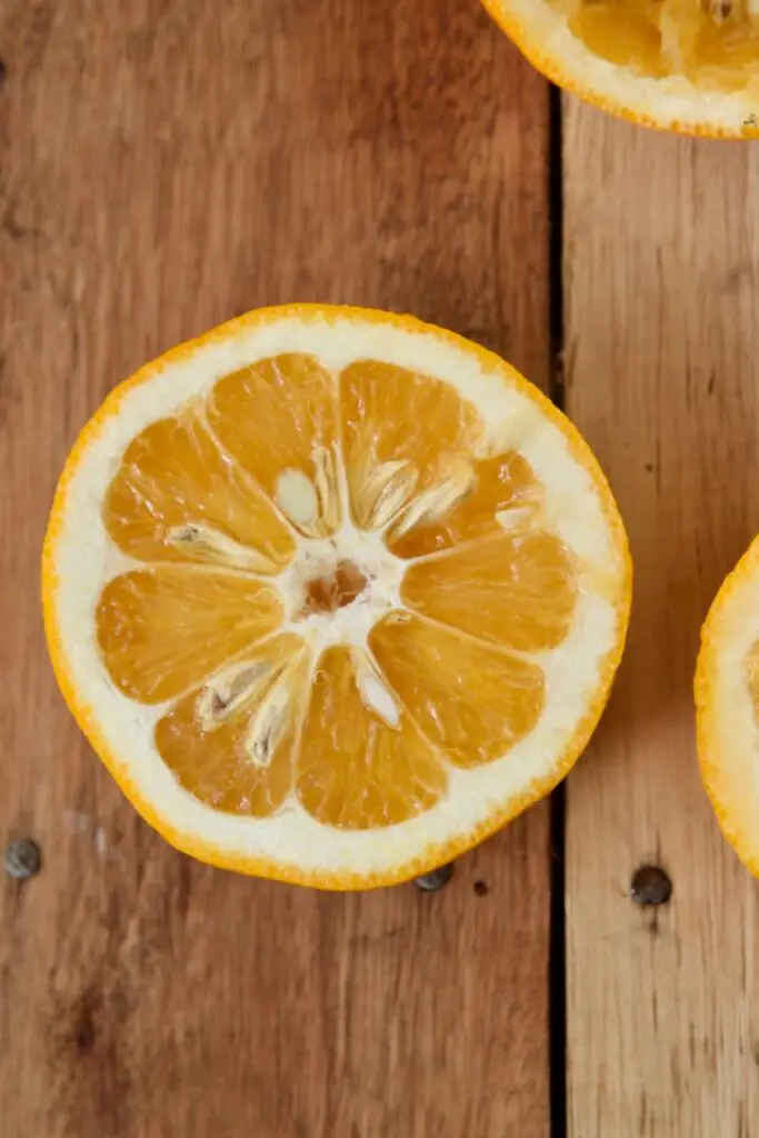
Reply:
<svg viewBox="0 0 759 1138"><path fill-rule="evenodd" d="M275 588L183 566L122 574L97 608L98 644L116 686L160 703L200 683L279 627Z"/></svg>

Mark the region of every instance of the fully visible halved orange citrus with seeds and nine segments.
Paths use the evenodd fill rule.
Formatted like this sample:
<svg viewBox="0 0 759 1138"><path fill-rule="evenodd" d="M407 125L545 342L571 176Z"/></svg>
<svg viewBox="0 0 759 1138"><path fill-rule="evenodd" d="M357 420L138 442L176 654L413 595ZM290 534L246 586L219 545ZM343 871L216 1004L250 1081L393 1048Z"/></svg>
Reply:
<svg viewBox="0 0 759 1138"><path fill-rule="evenodd" d="M74 715L198 858L347 889L546 794L625 640L577 431L411 318L254 312L117 388L60 479L46 627Z"/></svg>

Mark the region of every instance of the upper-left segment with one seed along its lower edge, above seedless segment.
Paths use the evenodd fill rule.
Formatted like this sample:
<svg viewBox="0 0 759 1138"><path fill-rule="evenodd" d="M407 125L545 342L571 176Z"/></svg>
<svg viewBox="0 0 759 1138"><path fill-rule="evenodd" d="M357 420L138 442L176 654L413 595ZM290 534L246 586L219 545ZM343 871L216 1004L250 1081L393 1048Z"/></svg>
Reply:
<svg viewBox="0 0 759 1138"><path fill-rule="evenodd" d="M192 406L133 439L108 487L102 519L118 547L140 561L275 574L295 552L288 527L220 452Z"/></svg>

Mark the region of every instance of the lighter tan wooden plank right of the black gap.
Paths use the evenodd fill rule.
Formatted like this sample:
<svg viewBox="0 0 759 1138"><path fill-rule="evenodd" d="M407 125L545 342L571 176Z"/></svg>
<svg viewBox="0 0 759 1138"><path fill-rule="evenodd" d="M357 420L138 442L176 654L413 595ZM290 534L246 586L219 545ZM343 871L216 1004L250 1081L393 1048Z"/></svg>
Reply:
<svg viewBox="0 0 759 1138"><path fill-rule="evenodd" d="M636 568L626 660L568 783L570 1135L759 1133L756 887L694 750L699 628L759 530L759 152L566 105L568 410ZM671 902L629 899L641 864Z"/></svg>

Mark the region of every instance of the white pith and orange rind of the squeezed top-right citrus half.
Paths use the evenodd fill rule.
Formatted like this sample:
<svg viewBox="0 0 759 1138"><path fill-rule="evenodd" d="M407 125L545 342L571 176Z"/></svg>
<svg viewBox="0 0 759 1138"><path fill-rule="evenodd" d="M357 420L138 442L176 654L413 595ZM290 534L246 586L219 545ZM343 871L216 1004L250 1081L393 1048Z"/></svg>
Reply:
<svg viewBox="0 0 759 1138"><path fill-rule="evenodd" d="M676 124L696 133L741 135L759 126L756 88L709 90L696 88L684 75L652 77L613 64L591 51L570 30L567 13L546 0L485 0L485 6L513 30L520 48L541 69L562 86L580 94L592 92L609 109L629 110L641 122Z"/></svg>

